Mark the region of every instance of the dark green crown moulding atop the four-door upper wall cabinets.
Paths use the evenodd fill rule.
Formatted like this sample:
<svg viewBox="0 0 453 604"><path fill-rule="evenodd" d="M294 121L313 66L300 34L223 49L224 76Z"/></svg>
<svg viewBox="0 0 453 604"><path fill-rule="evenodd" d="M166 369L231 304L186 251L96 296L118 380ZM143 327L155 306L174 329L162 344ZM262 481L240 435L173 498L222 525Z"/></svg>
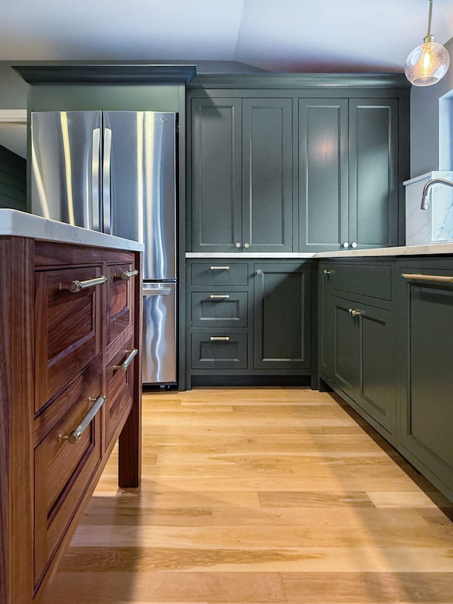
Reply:
<svg viewBox="0 0 453 604"><path fill-rule="evenodd" d="M189 89L199 88L402 88L409 89L404 74L200 74L196 75Z"/></svg>

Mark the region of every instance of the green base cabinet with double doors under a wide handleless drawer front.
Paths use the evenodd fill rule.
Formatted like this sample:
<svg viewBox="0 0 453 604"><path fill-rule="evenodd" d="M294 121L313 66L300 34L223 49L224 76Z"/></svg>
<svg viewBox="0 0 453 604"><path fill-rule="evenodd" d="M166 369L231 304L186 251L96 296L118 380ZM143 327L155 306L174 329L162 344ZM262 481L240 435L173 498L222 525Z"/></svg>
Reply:
<svg viewBox="0 0 453 604"><path fill-rule="evenodd" d="M321 379L389 440L396 414L391 263L320 263Z"/></svg>

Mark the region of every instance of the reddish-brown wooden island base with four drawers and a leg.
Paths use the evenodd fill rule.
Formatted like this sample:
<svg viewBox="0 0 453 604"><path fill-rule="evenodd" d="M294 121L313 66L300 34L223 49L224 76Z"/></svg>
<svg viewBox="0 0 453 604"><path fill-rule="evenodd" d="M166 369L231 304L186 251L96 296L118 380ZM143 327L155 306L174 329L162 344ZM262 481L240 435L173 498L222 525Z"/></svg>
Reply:
<svg viewBox="0 0 453 604"><path fill-rule="evenodd" d="M140 254L28 237L0 252L0 600L31 604L118 438L119 482L139 484Z"/></svg>

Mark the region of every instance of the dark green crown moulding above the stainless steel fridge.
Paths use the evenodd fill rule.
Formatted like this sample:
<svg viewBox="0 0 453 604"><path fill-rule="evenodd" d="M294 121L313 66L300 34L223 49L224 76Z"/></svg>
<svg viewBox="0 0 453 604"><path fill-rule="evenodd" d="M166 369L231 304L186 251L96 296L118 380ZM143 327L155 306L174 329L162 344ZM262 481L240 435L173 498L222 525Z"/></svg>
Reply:
<svg viewBox="0 0 453 604"><path fill-rule="evenodd" d="M45 82L185 82L197 72L195 65L153 64L38 64L13 65L29 84Z"/></svg>

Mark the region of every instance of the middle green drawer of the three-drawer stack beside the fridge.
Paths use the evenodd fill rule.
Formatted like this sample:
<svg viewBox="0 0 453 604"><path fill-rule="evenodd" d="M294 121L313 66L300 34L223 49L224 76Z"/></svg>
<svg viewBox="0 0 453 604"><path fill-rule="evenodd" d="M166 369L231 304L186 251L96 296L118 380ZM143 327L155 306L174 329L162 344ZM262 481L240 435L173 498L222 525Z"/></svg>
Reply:
<svg viewBox="0 0 453 604"><path fill-rule="evenodd" d="M193 327L246 327L247 292L192 292Z"/></svg>

